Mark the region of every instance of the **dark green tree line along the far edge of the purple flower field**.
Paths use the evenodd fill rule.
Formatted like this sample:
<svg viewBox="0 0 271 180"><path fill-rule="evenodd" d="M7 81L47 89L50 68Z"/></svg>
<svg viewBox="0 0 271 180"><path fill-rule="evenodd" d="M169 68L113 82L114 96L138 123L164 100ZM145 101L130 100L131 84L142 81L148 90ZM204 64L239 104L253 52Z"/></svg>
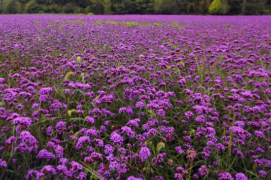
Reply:
<svg viewBox="0 0 271 180"><path fill-rule="evenodd" d="M271 0L0 0L1 14L271 14Z"/></svg>

